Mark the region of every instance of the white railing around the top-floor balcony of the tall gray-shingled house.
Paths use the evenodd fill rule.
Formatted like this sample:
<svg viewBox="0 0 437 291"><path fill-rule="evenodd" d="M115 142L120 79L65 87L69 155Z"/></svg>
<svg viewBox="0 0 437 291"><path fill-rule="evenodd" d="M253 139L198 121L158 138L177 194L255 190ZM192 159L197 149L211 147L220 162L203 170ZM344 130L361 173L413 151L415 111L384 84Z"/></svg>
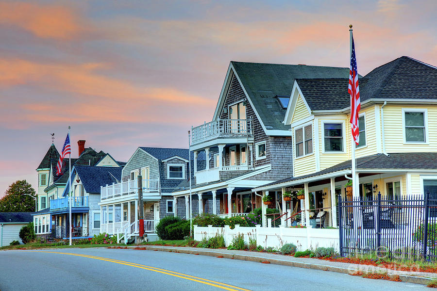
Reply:
<svg viewBox="0 0 437 291"><path fill-rule="evenodd" d="M247 137L252 135L251 119L218 119L192 129L191 144L218 137Z"/></svg>

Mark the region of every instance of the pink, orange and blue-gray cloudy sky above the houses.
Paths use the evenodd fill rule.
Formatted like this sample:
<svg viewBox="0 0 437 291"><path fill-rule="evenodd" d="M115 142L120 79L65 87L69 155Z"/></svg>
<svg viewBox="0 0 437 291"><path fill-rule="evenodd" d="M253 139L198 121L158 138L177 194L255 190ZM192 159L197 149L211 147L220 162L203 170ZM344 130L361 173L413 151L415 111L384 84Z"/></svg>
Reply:
<svg viewBox="0 0 437 291"><path fill-rule="evenodd" d="M437 1L1 1L0 196L51 144L127 161L187 147L210 121L229 61L349 66L407 55L437 65ZM347 76L345 76L347 77Z"/></svg>

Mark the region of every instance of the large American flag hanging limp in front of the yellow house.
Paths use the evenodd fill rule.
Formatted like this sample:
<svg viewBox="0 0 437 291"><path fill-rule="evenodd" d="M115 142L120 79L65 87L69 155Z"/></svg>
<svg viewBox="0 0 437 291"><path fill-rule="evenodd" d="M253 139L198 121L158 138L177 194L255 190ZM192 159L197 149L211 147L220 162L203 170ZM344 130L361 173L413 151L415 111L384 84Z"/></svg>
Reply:
<svg viewBox="0 0 437 291"><path fill-rule="evenodd" d="M360 142L360 134L358 129L358 113L361 108L360 102L360 87L358 86L358 71L356 69L356 58L355 58L355 45L353 44L352 37L352 54L351 54L351 67L349 71L349 87L348 93L351 95L351 129L352 136L355 144L358 145Z"/></svg>

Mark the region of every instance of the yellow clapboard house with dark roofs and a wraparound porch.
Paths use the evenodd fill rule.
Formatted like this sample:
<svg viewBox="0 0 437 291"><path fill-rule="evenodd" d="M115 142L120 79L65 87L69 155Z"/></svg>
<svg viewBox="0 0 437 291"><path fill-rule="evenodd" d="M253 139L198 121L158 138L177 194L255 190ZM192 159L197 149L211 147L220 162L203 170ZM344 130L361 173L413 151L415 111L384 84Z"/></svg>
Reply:
<svg viewBox="0 0 437 291"><path fill-rule="evenodd" d="M348 76L296 79L284 124L293 141L292 177L254 191L303 189L305 199L283 209L303 211L302 221L320 211L324 226L336 226L336 199L351 178L351 127ZM437 68L400 57L360 78L360 142L355 147L360 197L437 198Z"/></svg>

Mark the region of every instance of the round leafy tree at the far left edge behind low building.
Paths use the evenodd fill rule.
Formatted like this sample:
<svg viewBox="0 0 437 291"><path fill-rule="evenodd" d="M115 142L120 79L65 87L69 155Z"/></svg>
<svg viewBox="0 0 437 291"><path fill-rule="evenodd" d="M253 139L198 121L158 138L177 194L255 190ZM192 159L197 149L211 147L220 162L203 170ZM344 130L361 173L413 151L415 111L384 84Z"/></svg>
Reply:
<svg viewBox="0 0 437 291"><path fill-rule="evenodd" d="M35 211L35 190L26 180L12 183L0 199L0 212L33 212ZM26 195L29 194L29 195Z"/></svg>

